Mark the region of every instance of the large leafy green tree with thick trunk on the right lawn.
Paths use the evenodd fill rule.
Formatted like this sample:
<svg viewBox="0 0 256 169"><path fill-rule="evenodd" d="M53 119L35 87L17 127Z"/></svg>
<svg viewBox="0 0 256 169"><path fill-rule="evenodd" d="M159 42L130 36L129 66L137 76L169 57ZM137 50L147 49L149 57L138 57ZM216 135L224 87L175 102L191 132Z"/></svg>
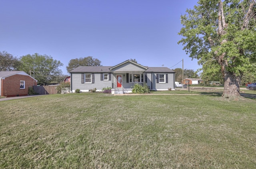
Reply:
<svg viewBox="0 0 256 169"><path fill-rule="evenodd" d="M199 0L181 16L178 42L192 59L198 59L205 74L221 72L223 98L240 97L245 71L256 66L255 0Z"/></svg>

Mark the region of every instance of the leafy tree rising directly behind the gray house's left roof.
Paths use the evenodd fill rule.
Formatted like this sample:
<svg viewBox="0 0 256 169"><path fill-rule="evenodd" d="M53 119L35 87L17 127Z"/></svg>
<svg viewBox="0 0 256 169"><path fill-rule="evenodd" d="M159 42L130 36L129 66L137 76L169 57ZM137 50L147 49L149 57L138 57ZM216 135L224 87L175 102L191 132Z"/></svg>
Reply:
<svg viewBox="0 0 256 169"><path fill-rule="evenodd" d="M80 57L79 59L71 59L66 66L68 72L77 68L78 66L100 66L101 61L99 59L94 59L91 56Z"/></svg>

